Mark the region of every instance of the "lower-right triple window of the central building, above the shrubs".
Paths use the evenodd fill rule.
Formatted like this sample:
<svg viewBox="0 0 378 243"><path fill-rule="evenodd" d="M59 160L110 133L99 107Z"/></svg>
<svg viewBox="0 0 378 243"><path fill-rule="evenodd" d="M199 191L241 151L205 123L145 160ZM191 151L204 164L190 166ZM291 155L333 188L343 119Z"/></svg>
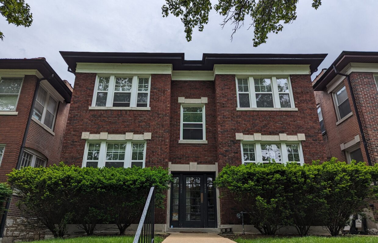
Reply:
<svg viewBox="0 0 378 243"><path fill-rule="evenodd" d="M242 142L242 164L296 162L304 164L302 145L295 142Z"/></svg>

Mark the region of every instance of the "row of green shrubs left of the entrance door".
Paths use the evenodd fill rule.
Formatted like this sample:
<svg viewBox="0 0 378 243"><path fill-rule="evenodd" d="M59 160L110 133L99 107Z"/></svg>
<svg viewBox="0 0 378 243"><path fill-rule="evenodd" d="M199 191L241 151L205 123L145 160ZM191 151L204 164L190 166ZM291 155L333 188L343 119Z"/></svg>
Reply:
<svg viewBox="0 0 378 243"><path fill-rule="evenodd" d="M63 237L67 224L92 235L96 225L117 225L119 234L138 223L150 187L155 206L163 207L172 177L162 168L81 168L61 163L47 168L25 167L8 175L21 196L17 203L28 225Z"/></svg>

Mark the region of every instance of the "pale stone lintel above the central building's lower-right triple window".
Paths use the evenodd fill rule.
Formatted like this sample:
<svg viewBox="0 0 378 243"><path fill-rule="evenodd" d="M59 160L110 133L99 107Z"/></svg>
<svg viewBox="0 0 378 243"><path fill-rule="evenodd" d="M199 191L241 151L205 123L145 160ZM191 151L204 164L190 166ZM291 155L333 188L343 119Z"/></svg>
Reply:
<svg viewBox="0 0 378 243"><path fill-rule="evenodd" d="M287 135L286 133L278 135L261 135L261 133L246 135L235 133L235 139L240 141L305 141L306 136L304 133L297 133L297 135Z"/></svg>

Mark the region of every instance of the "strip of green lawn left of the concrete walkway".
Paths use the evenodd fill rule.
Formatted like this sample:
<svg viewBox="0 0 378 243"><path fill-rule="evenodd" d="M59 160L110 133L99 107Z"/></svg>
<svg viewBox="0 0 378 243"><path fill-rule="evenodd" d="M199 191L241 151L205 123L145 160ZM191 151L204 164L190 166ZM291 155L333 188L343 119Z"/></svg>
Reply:
<svg viewBox="0 0 378 243"><path fill-rule="evenodd" d="M34 243L132 243L134 236L88 236L69 239L51 239L33 241ZM155 235L155 242L161 243L163 238Z"/></svg>

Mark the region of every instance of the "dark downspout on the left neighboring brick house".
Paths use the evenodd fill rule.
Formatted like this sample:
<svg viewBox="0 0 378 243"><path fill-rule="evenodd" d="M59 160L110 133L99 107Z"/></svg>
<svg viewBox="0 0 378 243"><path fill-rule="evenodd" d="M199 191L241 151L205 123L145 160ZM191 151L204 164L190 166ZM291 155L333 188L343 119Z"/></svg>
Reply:
<svg viewBox="0 0 378 243"><path fill-rule="evenodd" d="M21 148L20 148L19 157L17 159L17 164L16 164L16 167L15 167L17 169L20 167L20 163L21 163L21 159L22 159L22 154L23 154L23 151L24 151L24 148L25 148L26 137L28 135L31 117L33 116L33 108L34 108L34 103L36 102L37 93L38 93L38 89L39 89L39 84L40 84L40 82L42 80L50 79L50 78L53 78L53 77L54 77L54 74L52 74L48 78L39 78L37 80L36 89L34 90L34 95L33 95L33 101L31 102L31 107L30 107L28 121L26 123L25 133L24 133L23 139L22 139L22 144L21 144ZM2 217L2 220L1 220L1 223L0 223L0 238L4 236L6 217L8 215L9 206L11 205L11 198L12 198L12 196L8 198L8 200L6 201L6 204L5 204L5 210L3 212L3 217Z"/></svg>

